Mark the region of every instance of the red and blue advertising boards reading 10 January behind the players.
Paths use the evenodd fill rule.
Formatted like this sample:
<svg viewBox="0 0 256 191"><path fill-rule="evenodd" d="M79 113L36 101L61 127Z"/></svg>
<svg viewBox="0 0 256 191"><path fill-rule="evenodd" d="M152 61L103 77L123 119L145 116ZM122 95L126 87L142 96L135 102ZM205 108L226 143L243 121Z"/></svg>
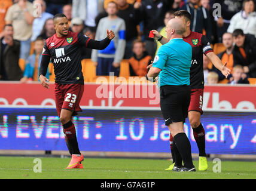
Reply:
<svg viewBox="0 0 256 191"><path fill-rule="evenodd" d="M0 154L68 155L57 116L53 84L0 82ZM202 124L211 156L255 159L256 86L206 86ZM169 158L169 130L154 84L85 84L74 116L80 149L87 156ZM188 120L185 133L198 153ZM25 152L26 151L26 152Z"/></svg>

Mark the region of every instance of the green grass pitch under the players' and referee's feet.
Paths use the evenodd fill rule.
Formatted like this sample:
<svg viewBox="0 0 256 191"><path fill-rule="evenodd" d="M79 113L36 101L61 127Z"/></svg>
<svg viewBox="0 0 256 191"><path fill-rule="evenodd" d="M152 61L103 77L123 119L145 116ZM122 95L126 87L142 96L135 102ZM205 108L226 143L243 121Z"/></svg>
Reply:
<svg viewBox="0 0 256 191"><path fill-rule="evenodd" d="M208 171L172 172L164 171L170 164L167 160L154 159L105 159L85 158L84 169L66 170L70 158L39 158L42 172L35 173L31 157L0 157L0 178L254 178L256 162L221 162L221 173L214 173L215 164L208 161ZM194 161L196 168L198 162Z"/></svg>

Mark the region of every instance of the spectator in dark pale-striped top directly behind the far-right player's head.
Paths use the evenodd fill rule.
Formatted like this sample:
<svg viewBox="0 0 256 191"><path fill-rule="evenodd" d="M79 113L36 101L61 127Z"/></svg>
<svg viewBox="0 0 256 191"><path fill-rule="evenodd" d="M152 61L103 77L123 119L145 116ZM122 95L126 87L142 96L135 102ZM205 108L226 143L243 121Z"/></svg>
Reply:
<svg viewBox="0 0 256 191"><path fill-rule="evenodd" d="M188 1L181 10L186 10L192 16L190 29L193 32L203 33L205 29L208 41L212 41L211 17L208 10L200 5L200 0Z"/></svg>

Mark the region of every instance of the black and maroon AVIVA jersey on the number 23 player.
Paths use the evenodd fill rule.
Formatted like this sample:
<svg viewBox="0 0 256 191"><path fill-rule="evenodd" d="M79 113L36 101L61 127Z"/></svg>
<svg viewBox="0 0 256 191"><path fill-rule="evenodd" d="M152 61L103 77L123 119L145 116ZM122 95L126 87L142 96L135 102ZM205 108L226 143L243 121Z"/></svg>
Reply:
<svg viewBox="0 0 256 191"><path fill-rule="evenodd" d="M53 62L55 82L58 84L84 84L81 66L82 47L102 50L110 40L94 41L83 33L69 31L68 35L58 37L56 34L45 41L39 76L45 76L48 63Z"/></svg>

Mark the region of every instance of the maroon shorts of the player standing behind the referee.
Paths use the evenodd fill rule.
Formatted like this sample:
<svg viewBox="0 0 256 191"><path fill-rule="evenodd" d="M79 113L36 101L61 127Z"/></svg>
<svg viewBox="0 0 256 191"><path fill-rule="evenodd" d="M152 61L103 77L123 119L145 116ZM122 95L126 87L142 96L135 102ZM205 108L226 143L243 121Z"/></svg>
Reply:
<svg viewBox="0 0 256 191"><path fill-rule="evenodd" d="M190 106L188 112L196 111L203 114L203 89L192 89L190 94Z"/></svg>

